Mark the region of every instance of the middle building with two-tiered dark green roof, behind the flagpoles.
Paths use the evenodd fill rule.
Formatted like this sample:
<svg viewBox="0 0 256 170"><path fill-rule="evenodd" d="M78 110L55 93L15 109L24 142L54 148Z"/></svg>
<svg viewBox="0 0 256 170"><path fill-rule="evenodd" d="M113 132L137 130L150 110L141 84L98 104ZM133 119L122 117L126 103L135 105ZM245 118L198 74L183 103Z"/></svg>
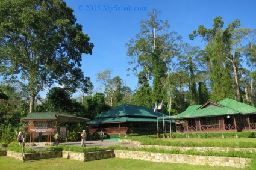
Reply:
<svg viewBox="0 0 256 170"><path fill-rule="evenodd" d="M158 112L158 117L163 117L163 115ZM157 113L145 106L123 104L103 112L87 124L91 127L90 133L102 130L107 134L154 134L157 133ZM163 132L163 121L158 120L158 129Z"/></svg>

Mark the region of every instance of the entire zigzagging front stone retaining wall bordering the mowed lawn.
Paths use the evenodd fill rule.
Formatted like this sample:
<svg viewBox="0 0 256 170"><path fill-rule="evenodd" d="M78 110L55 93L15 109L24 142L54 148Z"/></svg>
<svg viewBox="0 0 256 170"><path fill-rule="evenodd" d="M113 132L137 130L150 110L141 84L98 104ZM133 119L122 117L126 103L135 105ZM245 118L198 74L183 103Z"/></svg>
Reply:
<svg viewBox="0 0 256 170"><path fill-rule="evenodd" d="M6 156L22 160L21 153L7 151ZM251 162L251 159L238 157L193 156L182 154L164 154L123 150L97 151L92 153L77 153L72 151L47 151L41 153L26 153L25 161L48 159L55 157L64 157L67 159L80 161L90 161L118 157L125 159L146 160L151 162L188 163L192 165L230 166L236 168L245 168L249 164L249 162Z"/></svg>

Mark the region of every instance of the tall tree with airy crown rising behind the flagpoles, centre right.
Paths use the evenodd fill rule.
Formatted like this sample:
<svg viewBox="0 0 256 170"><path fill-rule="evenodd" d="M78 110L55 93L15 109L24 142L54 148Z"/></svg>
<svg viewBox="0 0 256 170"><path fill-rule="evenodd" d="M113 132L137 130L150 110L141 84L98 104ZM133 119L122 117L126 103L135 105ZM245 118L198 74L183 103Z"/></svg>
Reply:
<svg viewBox="0 0 256 170"><path fill-rule="evenodd" d="M159 20L159 14L159 11L152 10L148 14L149 20L142 20L136 40L131 39L126 44L126 55L131 57L130 63L137 63L133 70L143 68L148 81L151 75L154 77L152 105L155 100L167 101L162 79L166 78L167 63L172 62L172 58L179 53L180 44L176 40L181 38L176 37L176 32L169 32L170 25L167 21Z"/></svg>

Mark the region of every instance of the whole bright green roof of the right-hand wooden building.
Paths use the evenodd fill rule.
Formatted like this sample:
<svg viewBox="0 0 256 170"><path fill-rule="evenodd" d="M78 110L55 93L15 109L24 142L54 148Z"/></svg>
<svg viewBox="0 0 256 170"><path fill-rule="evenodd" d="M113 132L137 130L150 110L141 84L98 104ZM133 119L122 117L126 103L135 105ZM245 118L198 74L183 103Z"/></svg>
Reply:
<svg viewBox="0 0 256 170"><path fill-rule="evenodd" d="M192 117L210 117L217 115L232 115L232 114L254 114L256 108L246 105L245 103L237 102L232 99L224 99L217 103L221 106L210 106L200 108L202 105L189 106L186 111L176 115L175 118L192 118Z"/></svg>

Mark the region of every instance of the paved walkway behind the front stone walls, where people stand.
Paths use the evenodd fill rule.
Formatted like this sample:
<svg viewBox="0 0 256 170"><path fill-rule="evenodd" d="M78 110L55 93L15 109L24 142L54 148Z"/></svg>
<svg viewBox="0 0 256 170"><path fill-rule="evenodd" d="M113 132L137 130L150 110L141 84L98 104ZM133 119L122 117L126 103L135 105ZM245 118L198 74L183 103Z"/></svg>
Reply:
<svg viewBox="0 0 256 170"><path fill-rule="evenodd" d="M72 146L78 146L81 147L81 142L61 142L58 145L72 145ZM120 145L123 147L134 147L137 148L138 146L135 144L126 144L126 143L121 143L116 140L104 140L101 142L101 140L96 140L96 141L86 141L86 147L109 147L109 146L114 146L114 145ZM27 147L27 148L33 148L33 150L37 150L40 148L45 148L48 146L33 146L33 147Z"/></svg>

